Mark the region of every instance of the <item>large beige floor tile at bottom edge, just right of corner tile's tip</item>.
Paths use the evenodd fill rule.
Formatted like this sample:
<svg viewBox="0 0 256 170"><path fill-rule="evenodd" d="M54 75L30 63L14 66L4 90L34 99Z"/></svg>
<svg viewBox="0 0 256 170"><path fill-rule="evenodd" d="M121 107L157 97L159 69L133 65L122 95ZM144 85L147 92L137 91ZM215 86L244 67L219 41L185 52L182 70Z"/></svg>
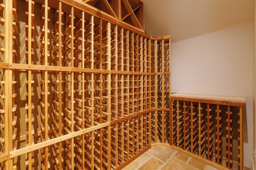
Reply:
<svg viewBox="0 0 256 170"><path fill-rule="evenodd" d="M171 158L161 170L196 170L176 158Z"/></svg>

